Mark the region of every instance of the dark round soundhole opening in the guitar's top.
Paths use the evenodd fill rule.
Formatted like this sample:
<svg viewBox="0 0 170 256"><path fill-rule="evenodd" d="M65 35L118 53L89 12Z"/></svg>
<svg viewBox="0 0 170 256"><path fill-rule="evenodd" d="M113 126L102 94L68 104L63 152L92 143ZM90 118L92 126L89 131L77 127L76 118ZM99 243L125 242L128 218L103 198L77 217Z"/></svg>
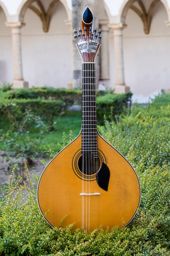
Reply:
<svg viewBox="0 0 170 256"><path fill-rule="evenodd" d="M91 152L86 152L79 157L78 167L84 175L93 175L99 170L100 159L94 157Z"/></svg>

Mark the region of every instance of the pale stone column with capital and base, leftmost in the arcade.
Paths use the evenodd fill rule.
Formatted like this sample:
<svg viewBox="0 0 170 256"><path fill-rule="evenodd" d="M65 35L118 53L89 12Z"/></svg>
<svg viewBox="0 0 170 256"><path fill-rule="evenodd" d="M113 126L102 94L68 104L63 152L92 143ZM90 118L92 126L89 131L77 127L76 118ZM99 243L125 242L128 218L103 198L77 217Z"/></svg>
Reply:
<svg viewBox="0 0 170 256"><path fill-rule="evenodd" d="M22 22L7 23L7 27L11 27L12 48L13 48L13 88L28 87L28 82L24 81L22 75L22 54L21 54L21 27Z"/></svg>

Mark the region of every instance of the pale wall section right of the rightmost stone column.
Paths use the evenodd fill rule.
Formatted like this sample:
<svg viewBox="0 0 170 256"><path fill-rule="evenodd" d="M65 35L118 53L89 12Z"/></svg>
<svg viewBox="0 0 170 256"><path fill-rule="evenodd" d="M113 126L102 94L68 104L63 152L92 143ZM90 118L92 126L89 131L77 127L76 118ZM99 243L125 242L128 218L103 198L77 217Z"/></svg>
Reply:
<svg viewBox="0 0 170 256"><path fill-rule="evenodd" d="M170 28L164 21L167 13L158 4L152 18L150 34L144 34L139 16L128 10L124 29L125 82L133 99L148 101L149 95L170 88Z"/></svg>

